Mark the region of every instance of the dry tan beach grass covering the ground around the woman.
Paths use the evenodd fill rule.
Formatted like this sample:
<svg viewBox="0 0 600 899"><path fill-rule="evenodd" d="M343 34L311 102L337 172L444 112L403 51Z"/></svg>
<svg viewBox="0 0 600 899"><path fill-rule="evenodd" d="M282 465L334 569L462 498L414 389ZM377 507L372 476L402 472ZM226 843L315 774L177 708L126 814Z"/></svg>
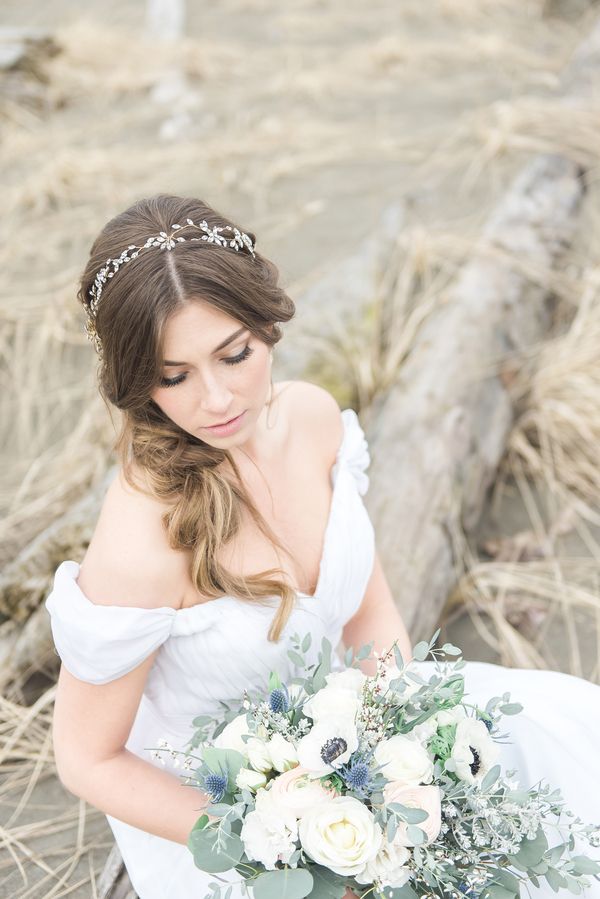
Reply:
<svg viewBox="0 0 600 899"><path fill-rule="evenodd" d="M57 22L60 52L19 92L0 78L2 564L112 458L74 291L114 211L159 190L204 195L251 224L296 297L405 202L364 326L340 327L309 372L367 414L509 178L556 152L585 168L580 233L560 270L529 273L552 284L548 341L490 360L515 424L481 526L455 534L445 629L471 657L483 646L600 681L600 98L565 102L560 84L597 4L226 0L190 9L176 46L143 37L137 4L88 4L87 20L48 6L5 10L8 24ZM56 781L57 660L41 661L0 705L0 896L96 897L111 835Z"/></svg>

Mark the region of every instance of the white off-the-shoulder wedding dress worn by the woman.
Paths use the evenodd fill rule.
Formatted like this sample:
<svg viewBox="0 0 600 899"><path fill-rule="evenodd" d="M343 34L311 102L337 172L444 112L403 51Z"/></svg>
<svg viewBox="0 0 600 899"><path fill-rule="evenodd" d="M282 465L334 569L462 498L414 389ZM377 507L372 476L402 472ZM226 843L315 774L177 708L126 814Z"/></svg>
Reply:
<svg viewBox="0 0 600 899"><path fill-rule="evenodd" d="M79 565L59 565L46 608L57 652L73 675L104 684L160 647L127 741L131 752L151 764L161 765L151 756L160 739L183 749L192 719L218 716L220 700L241 698L245 687L266 688L272 669L284 679L293 676L287 656L292 634L310 631L311 662L323 635L338 646L344 624L360 606L375 554L374 530L362 500L369 484L368 446L352 409L342 412L342 420L317 588L314 596L298 594L279 643L267 639L269 607L228 596L178 610L95 605L77 584ZM338 653L334 660L341 667ZM566 674L478 662L467 663L464 674L471 700L485 703L508 690L524 705L523 713L504 719L514 740L502 747L504 765L519 769L524 786L543 777L561 786L574 812L586 822L599 821L600 687ZM165 767L180 776L168 754L162 756ZM209 893L207 885L217 877L199 870L186 846L108 815L107 820L140 899L202 899ZM239 880L235 871L219 877ZM556 894L541 888L532 895ZM600 897L600 884L585 895ZM234 887L233 897L241 896Z"/></svg>

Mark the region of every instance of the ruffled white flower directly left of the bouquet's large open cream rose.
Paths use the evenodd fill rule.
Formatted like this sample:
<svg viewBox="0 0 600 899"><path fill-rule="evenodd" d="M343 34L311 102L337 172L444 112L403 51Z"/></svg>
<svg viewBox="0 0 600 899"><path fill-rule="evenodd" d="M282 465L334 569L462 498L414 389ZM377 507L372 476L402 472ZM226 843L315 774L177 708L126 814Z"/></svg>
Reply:
<svg viewBox="0 0 600 899"><path fill-rule="evenodd" d="M276 862L287 863L296 849L296 818L282 814L273 803L269 791L260 789L256 794L254 811L244 819L240 837L248 858L272 871Z"/></svg>

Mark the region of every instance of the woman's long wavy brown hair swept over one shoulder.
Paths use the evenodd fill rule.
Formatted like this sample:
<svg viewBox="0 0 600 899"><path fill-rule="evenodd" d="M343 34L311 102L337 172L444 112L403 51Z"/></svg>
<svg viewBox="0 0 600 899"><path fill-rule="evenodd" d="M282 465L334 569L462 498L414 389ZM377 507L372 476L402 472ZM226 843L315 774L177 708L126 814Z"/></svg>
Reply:
<svg viewBox="0 0 600 899"><path fill-rule="evenodd" d="M202 200L166 194L139 200L111 219L91 248L77 294L86 310L89 290L107 259L161 231L169 233L173 224L188 218L205 219L209 227L238 227L256 244L251 231ZM134 489L167 504L162 521L169 545L191 551L190 573L197 589L213 598L236 596L261 603L279 595L269 630L269 640L278 641L295 599L282 569L236 577L216 554L238 532L244 508L274 547L288 551L246 492L231 453L184 431L150 397L160 383L165 324L194 299L202 298L235 318L268 346L281 339L278 322L292 318L294 303L278 286L276 266L254 252L253 258L247 248L185 241L169 251L145 250L122 265L104 285L97 310L95 325L102 342L98 380L104 401L122 412L115 450L124 476ZM223 474L227 465L220 468L225 461L234 480ZM134 477L134 465L145 476L145 488Z"/></svg>

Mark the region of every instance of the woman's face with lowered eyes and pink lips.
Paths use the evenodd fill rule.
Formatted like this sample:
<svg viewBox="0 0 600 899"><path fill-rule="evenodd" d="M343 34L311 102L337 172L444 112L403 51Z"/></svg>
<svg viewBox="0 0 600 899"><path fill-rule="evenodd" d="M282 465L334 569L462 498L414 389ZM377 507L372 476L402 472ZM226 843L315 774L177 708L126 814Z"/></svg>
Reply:
<svg viewBox="0 0 600 899"><path fill-rule="evenodd" d="M237 319L195 300L166 323L161 386L150 395L175 424L205 443L242 446L269 397L270 362L270 347ZM211 427L237 416L228 428Z"/></svg>

